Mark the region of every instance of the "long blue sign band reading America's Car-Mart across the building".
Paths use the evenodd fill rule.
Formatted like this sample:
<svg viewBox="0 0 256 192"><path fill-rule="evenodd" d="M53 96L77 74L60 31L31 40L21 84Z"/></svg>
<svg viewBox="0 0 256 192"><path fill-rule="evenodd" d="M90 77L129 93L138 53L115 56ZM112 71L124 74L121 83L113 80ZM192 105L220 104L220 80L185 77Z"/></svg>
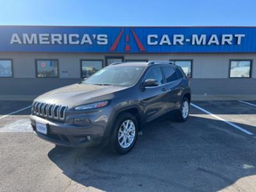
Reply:
<svg viewBox="0 0 256 192"><path fill-rule="evenodd" d="M256 52L256 28L0 26L0 51Z"/></svg>

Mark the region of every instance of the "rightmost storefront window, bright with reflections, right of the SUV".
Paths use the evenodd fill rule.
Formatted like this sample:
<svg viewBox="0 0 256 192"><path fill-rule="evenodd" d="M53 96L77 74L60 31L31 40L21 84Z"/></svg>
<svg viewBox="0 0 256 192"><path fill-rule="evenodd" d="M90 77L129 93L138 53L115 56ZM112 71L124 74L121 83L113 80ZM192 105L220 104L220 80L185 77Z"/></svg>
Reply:
<svg viewBox="0 0 256 192"><path fill-rule="evenodd" d="M230 77L250 78L252 61L230 61Z"/></svg>

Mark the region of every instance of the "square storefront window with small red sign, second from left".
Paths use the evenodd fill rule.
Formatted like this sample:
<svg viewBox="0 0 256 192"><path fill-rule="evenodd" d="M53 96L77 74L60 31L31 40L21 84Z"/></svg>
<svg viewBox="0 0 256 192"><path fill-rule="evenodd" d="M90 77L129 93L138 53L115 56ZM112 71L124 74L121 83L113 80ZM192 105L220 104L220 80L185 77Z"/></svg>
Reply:
<svg viewBox="0 0 256 192"><path fill-rule="evenodd" d="M57 60L36 60L37 77L58 77Z"/></svg>

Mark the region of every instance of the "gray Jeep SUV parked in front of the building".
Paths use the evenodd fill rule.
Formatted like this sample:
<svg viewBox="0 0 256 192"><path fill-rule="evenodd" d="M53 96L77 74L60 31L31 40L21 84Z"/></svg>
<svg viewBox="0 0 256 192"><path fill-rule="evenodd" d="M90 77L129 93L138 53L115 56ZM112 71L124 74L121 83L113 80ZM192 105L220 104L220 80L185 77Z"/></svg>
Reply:
<svg viewBox="0 0 256 192"><path fill-rule="evenodd" d="M186 121L190 100L188 78L169 61L113 63L81 83L37 97L30 119L35 134L56 145L107 141L125 154L143 124L170 111Z"/></svg>

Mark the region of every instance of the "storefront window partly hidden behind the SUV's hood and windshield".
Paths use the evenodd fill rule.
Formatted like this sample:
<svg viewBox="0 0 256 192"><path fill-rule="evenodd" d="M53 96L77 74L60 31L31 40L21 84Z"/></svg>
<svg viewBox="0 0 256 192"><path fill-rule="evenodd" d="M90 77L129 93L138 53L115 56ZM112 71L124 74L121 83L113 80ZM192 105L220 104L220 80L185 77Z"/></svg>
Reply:
<svg viewBox="0 0 256 192"><path fill-rule="evenodd" d="M102 61L82 61L82 77L90 77L102 68Z"/></svg>

